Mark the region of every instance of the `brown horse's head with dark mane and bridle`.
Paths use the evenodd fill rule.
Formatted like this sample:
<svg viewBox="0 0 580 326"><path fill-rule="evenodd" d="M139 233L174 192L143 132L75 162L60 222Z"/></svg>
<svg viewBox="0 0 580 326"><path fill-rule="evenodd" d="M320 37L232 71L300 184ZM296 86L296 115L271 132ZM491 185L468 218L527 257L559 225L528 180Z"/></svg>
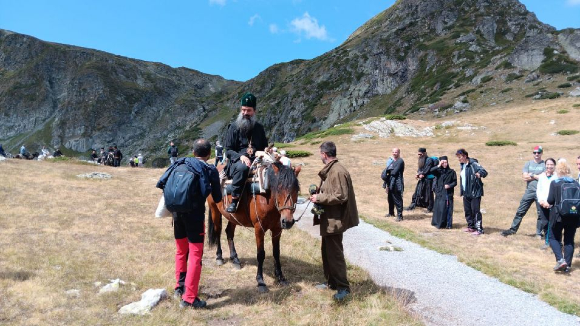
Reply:
<svg viewBox="0 0 580 326"><path fill-rule="evenodd" d="M284 230L291 229L295 222L293 215L300 191L297 178L299 172L300 169L295 172L287 166L273 163L269 173L272 200L280 212L280 224Z"/></svg>

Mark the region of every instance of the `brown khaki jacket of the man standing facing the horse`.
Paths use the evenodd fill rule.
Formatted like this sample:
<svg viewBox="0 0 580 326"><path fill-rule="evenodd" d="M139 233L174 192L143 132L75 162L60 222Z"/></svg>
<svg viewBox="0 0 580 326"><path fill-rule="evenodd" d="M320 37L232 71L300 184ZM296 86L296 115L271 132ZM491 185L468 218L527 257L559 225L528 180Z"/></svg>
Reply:
<svg viewBox="0 0 580 326"><path fill-rule="evenodd" d="M324 213L320 216L320 235L340 234L357 226L357 201L349 171L334 160L328 162L318 176L322 179L322 186L316 202L324 207Z"/></svg>

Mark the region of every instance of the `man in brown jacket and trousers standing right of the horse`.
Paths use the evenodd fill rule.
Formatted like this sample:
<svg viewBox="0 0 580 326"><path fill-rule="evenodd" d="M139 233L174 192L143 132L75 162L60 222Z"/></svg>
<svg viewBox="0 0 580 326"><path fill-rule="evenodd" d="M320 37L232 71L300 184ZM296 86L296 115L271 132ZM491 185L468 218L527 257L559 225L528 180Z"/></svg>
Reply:
<svg viewBox="0 0 580 326"><path fill-rule="evenodd" d="M320 193L312 195L310 201L324 208L320 219L314 220L314 225L320 224L322 237L322 267L327 280L322 288L336 290L333 298L342 301L350 294L342 234L358 225L357 202L349 171L338 162L333 142L320 145L320 158L325 164L318 172L322 180Z"/></svg>

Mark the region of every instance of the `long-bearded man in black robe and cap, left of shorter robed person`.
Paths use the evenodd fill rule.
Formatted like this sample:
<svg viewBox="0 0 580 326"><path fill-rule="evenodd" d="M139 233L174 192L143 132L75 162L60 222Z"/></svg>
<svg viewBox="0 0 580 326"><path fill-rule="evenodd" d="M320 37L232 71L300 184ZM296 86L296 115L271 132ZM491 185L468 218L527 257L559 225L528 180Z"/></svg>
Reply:
<svg viewBox="0 0 580 326"><path fill-rule="evenodd" d="M415 178L419 181L415 187L411 205L405 208L405 211L412 211L415 207L424 207L427 209L427 213L433 213L433 179L435 176L431 169L439 165L439 159L437 157L429 157L425 147L419 148L417 155L419 158Z"/></svg>

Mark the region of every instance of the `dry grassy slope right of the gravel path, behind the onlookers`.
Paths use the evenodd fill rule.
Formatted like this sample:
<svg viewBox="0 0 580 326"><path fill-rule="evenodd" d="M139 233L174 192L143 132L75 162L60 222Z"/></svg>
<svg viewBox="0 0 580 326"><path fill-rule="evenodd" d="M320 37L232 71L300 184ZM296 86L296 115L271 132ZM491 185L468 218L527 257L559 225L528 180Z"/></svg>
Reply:
<svg viewBox="0 0 580 326"><path fill-rule="evenodd" d="M567 158L574 171L573 175L577 175L575 161L580 155L580 135L551 136L561 129L580 130L580 109L572 108L572 104L577 102L577 99L542 100L519 106L507 104L481 108L436 121L403 121L419 126L433 126L443 121L455 120L461 121L458 125L471 124L479 128L471 131L461 131L455 127L440 129L434 131L434 137L391 137L353 142L349 135L345 135L325 140L336 142L339 160L349 168L353 179L359 213L368 222L426 247L457 255L467 265L498 277L507 284L538 294L539 298L560 310L580 316L580 259L574 259L573 271L570 274L556 274L552 271L552 251L541 251L539 248L543 241L533 237L536 226L535 206L532 205L515 236L504 238L498 233L509 229L512 223L525 190L525 183L521 181L521 169L525 161L532 160L534 146L543 146L544 159ZM563 108L570 110L570 113L556 114ZM552 120L554 124L550 124ZM361 127L357 127L357 131L367 132ZM445 136L447 131L449 136ZM484 146L489 140L511 140L518 145ZM318 146L319 144L303 145L295 149L317 153ZM453 230L437 230L432 227L431 215L423 213L425 209L404 212L402 223L383 218L387 212L387 202L380 187L380 172L392 147L400 147L401 156L405 160L405 206L411 201L415 189L418 147L426 147L429 155L448 155L451 167L458 174L459 163L454 155L458 148L466 148L470 157L477 158L489 172L484 179L485 195L481 204L486 211L483 215L485 235L472 237L459 231L459 228L466 226L466 222L458 189L455 192ZM316 173L322 166L318 155L293 160L293 164L299 162L307 164L307 168L300 174L300 182L303 185L317 183Z"/></svg>

